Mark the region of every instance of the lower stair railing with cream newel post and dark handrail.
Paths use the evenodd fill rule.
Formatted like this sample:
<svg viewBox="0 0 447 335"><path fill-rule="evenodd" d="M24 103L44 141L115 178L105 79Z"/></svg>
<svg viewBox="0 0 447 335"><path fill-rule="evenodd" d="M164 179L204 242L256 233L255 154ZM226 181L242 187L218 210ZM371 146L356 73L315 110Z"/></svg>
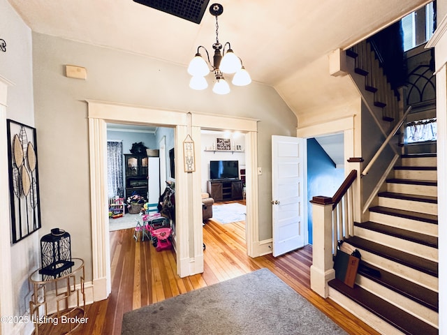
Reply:
<svg viewBox="0 0 447 335"><path fill-rule="evenodd" d="M354 182L357 170L352 170L332 198L312 198L312 266L311 288L321 297L328 297L328 281L335 278L333 255L339 240L353 235Z"/></svg>

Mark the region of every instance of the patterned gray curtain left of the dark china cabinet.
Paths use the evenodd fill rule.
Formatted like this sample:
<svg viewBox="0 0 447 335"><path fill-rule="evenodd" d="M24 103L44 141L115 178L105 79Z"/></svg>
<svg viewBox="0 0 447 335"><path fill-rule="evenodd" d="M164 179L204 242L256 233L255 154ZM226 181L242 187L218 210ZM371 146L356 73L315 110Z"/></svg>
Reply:
<svg viewBox="0 0 447 335"><path fill-rule="evenodd" d="M122 142L107 142L107 177L108 197L124 198Z"/></svg>

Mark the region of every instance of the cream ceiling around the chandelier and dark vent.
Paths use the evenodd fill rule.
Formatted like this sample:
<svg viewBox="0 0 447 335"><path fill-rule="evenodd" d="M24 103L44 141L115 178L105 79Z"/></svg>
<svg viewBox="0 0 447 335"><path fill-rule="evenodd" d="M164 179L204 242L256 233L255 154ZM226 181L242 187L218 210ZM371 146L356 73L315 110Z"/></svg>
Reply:
<svg viewBox="0 0 447 335"><path fill-rule="evenodd" d="M215 19L208 10L195 24L132 0L8 1L38 33L145 54L185 70L198 45L210 51L215 40ZM311 102L309 94L297 94L296 88L309 86L301 81L309 79L317 59L355 44L427 2L222 0L219 40L230 41L252 79L277 89L298 115Z"/></svg>

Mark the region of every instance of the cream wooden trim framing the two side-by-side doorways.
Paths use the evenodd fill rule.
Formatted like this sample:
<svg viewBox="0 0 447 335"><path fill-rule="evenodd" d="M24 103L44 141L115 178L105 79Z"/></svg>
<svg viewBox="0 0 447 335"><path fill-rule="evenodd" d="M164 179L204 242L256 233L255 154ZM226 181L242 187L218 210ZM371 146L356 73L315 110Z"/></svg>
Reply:
<svg viewBox="0 0 447 335"><path fill-rule="evenodd" d="M258 240L258 179L256 119L200 114L179 110L125 105L87 100L89 117L91 232L94 301L110 294L110 246L108 239L107 202L107 122L154 124L175 127L176 251L177 274L180 277L203 272L203 227L200 198L200 130L201 128L243 131L247 154L247 253L253 253ZM196 171L184 172L182 148L186 135L196 143ZM192 200L192 201L191 201ZM103 206L98 206L103 204ZM191 224L192 223L192 224ZM191 243L192 248L191 248Z"/></svg>

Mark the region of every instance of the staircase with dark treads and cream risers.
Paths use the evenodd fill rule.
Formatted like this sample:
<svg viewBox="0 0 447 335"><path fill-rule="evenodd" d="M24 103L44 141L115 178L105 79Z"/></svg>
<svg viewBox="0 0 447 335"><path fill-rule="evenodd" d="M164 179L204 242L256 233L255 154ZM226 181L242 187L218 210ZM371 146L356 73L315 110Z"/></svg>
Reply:
<svg viewBox="0 0 447 335"><path fill-rule="evenodd" d="M345 239L362 255L355 287L328 283L332 300L382 334L438 334L436 166L436 154L400 158L369 221Z"/></svg>

